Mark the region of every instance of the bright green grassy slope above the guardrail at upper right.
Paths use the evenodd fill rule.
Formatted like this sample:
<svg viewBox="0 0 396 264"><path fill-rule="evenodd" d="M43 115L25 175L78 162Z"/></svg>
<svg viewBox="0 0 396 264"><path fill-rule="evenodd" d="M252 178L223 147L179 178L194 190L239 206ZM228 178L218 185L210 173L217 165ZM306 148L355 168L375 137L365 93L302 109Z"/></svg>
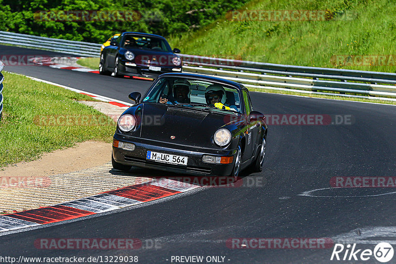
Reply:
<svg viewBox="0 0 396 264"><path fill-rule="evenodd" d="M252 0L249 10L327 10L325 21L231 21L168 37L182 53L380 72L396 72L394 0ZM334 55L394 55L392 65L340 65Z"/></svg>

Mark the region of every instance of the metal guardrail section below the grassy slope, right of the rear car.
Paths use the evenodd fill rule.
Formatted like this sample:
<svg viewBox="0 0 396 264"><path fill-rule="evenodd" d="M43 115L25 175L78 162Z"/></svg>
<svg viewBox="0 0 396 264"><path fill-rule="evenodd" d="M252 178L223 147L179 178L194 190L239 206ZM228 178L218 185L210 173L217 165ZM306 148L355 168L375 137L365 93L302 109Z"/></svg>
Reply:
<svg viewBox="0 0 396 264"><path fill-rule="evenodd" d="M181 57L185 72L218 76L251 88L287 88L332 92L331 95L349 93L396 98L395 73L303 67L186 54L181 54Z"/></svg>

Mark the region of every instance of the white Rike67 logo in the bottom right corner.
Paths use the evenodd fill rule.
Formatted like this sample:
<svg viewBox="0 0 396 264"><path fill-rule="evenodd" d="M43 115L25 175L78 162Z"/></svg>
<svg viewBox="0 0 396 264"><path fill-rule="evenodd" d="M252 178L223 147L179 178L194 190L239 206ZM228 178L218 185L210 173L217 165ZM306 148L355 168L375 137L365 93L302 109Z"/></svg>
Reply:
<svg viewBox="0 0 396 264"><path fill-rule="evenodd" d="M374 250L371 249L356 249L356 244L352 246L347 244L336 244L331 254L330 260L337 261L368 261L373 256L374 258L382 263L389 262L392 260L394 250L391 244L387 242L381 242L377 244Z"/></svg>

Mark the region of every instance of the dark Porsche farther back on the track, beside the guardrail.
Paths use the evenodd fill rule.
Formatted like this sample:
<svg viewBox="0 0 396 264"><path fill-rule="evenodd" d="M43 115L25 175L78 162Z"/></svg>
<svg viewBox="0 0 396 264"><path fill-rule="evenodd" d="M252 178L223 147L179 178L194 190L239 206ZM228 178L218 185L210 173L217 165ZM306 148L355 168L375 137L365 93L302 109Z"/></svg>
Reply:
<svg viewBox="0 0 396 264"><path fill-rule="evenodd" d="M99 73L114 77L153 77L182 72L182 59L175 53L180 50L172 50L161 36L124 32L100 52Z"/></svg>

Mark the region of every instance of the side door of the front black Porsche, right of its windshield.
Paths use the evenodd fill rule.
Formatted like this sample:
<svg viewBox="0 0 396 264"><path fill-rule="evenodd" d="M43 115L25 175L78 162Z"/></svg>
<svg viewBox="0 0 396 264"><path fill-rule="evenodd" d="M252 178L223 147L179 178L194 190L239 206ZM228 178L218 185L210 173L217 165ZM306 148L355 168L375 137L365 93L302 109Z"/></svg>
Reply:
<svg viewBox="0 0 396 264"><path fill-rule="evenodd" d="M246 116L247 116L247 130L245 131L245 152L243 156L243 161L246 161L250 159L254 155L254 150L256 146L256 141L257 141L257 121L254 121L252 123L248 122L248 117L251 112L251 101L249 97L249 93L247 90L242 91L243 97L244 97L244 105L245 105L245 111L246 111Z"/></svg>

